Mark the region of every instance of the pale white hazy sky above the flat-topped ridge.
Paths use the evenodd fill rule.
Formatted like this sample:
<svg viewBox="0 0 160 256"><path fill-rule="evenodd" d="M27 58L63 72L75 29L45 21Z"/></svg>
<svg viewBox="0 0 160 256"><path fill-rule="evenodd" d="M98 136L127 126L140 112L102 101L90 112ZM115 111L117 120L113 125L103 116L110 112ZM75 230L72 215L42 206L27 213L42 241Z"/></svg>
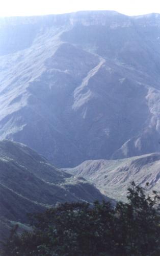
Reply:
<svg viewBox="0 0 160 256"><path fill-rule="evenodd" d="M0 16L115 10L127 15L160 13L159 0L0 0Z"/></svg>

